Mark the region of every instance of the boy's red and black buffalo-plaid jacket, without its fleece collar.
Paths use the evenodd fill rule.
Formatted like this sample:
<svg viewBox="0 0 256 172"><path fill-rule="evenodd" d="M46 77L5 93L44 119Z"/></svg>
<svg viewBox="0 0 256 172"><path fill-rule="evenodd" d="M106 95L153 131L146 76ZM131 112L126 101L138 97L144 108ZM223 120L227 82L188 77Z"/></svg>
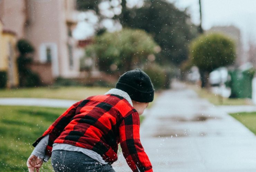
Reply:
<svg viewBox="0 0 256 172"><path fill-rule="evenodd" d="M132 171L153 171L140 143L139 125L138 112L123 97L92 96L68 108L33 146L49 134L49 156L53 143L66 143L93 150L112 164L117 160L120 143Z"/></svg>

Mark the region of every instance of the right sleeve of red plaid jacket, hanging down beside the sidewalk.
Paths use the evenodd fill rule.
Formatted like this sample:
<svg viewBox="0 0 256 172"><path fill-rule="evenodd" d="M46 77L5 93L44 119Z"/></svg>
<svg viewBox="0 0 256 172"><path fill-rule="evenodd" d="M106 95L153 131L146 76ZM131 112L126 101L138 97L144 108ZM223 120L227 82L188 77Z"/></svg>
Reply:
<svg viewBox="0 0 256 172"><path fill-rule="evenodd" d="M153 171L148 156L140 143L139 114L137 112L122 120L119 133L122 153L131 170L136 172Z"/></svg>

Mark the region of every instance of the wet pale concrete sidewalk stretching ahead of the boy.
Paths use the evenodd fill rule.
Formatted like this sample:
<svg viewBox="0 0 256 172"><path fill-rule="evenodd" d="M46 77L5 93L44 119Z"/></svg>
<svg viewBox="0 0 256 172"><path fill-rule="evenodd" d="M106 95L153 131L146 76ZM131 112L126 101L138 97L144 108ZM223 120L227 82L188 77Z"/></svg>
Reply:
<svg viewBox="0 0 256 172"><path fill-rule="evenodd" d="M140 130L154 171L256 171L256 137L226 111L180 83L161 94ZM115 170L130 171L119 157Z"/></svg>

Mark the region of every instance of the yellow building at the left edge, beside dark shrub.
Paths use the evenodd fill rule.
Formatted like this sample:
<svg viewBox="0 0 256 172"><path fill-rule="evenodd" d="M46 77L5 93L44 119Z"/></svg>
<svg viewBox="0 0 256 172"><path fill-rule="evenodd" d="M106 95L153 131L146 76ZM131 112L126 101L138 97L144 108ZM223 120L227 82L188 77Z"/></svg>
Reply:
<svg viewBox="0 0 256 172"><path fill-rule="evenodd" d="M7 74L8 88L19 84L16 59L16 34L5 30L0 20L0 71Z"/></svg>

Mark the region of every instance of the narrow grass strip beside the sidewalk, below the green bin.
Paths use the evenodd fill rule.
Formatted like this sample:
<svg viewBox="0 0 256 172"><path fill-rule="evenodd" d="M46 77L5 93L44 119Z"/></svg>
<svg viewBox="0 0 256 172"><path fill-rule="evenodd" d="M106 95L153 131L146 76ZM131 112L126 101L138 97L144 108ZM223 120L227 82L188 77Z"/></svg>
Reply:
<svg viewBox="0 0 256 172"><path fill-rule="evenodd" d="M192 88L199 97L205 98L214 105L252 105L252 100L248 98L226 98L219 95L213 94L210 90L206 88L196 87L194 85L189 85L189 88Z"/></svg>

